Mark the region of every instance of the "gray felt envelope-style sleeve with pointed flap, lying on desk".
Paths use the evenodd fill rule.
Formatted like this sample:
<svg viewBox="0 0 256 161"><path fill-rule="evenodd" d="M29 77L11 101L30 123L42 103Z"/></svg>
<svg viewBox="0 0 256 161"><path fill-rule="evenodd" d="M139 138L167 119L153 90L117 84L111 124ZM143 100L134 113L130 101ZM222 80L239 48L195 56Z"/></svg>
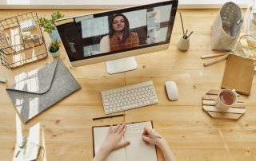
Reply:
<svg viewBox="0 0 256 161"><path fill-rule="evenodd" d="M81 88L61 60L17 78L6 91L25 123Z"/></svg>

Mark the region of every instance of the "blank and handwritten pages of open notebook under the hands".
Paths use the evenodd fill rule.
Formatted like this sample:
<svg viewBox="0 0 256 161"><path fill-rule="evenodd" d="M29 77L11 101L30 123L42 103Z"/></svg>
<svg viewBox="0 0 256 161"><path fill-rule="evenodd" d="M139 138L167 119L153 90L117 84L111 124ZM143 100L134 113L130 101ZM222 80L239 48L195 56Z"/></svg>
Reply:
<svg viewBox="0 0 256 161"><path fill-rule="evenodd" d="M130 145L108 155L106 161L157 161L157 153L154 145L146 145L142 140L144 127L153 128L151 121L126 124L126 133L123 139L130 141ZM106 138L110 126L93 127L94 154L98 151L103 140Z"/></svg>

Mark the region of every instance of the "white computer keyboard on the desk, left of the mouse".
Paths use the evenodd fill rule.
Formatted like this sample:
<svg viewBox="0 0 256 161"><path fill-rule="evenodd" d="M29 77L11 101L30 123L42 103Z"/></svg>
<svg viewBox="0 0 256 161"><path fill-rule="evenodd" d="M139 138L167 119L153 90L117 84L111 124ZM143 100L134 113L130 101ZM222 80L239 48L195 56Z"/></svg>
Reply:
<svg viewBox="0 0 256 161"><path fill-rule="evenodd" d="M109 89L101 93L106 114L158 103L153 81Z"/></svg>

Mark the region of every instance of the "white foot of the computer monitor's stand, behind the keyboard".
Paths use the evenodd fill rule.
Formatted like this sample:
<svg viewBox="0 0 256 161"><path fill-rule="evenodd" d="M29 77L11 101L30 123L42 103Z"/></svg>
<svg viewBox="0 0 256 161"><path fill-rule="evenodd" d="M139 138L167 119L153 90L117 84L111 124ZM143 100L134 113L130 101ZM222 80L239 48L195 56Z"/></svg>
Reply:
<svg viewBox="0 0 256 161"><path fill-rule="evenodd" d="M126 57L114 61L106 61L106 71L110 74L122 73L137 68L138 65L135 57Z"/></svg>

